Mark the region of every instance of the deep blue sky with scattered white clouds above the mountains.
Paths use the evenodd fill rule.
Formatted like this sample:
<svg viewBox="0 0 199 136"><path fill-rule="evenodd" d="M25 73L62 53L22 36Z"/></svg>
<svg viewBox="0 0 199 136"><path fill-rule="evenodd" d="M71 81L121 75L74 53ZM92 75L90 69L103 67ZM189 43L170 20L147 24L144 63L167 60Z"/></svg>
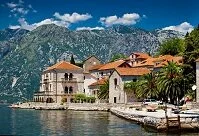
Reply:
<svg viewBox="0 0 199 136"><path fill-rule="evenodd" d="M72 30L127 25L190 32L199 0L0 0L0 29L56 24Z"/></svg>

